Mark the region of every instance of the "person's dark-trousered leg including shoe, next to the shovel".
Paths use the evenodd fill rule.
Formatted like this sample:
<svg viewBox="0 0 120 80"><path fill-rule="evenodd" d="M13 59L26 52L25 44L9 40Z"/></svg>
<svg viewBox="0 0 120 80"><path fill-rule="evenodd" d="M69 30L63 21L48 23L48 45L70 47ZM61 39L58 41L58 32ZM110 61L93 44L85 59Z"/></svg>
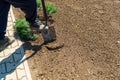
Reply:
<svg viewBox="0 0 120 80"><path fill-rule="evenodd" d="M40 25L37 20L37 4L36 0L7 0L16 8L20 8L26 14L26 20L30 23L30 27L35 30L42 30L44 25ZM48 28L48 27L45 27Z"/></svg>

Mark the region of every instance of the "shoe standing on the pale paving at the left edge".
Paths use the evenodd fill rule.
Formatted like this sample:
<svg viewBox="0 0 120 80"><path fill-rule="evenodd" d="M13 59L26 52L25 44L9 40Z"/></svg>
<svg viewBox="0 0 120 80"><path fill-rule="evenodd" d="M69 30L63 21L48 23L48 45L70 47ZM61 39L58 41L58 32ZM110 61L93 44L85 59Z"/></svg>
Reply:
<svg viewBox="0 0 120 80"><path fill-rule="evenodd" d="M14 41L14 37L5 37L3 40L0 40L0 52L12 44Z"/></svg>

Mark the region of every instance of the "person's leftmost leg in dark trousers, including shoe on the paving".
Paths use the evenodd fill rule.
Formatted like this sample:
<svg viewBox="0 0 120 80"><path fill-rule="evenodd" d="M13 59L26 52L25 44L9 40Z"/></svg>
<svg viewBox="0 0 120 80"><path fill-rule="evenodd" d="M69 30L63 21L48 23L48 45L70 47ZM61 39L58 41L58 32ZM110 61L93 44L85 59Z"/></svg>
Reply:
<svg viewBox="0 0 120 80"><path fill-rule="evenodd" d="M8 45L14 42L13 37L6 37L6 27L8 21L8 12L10 4L4 0L0 1L0 52L4 50Z"/></svg>

